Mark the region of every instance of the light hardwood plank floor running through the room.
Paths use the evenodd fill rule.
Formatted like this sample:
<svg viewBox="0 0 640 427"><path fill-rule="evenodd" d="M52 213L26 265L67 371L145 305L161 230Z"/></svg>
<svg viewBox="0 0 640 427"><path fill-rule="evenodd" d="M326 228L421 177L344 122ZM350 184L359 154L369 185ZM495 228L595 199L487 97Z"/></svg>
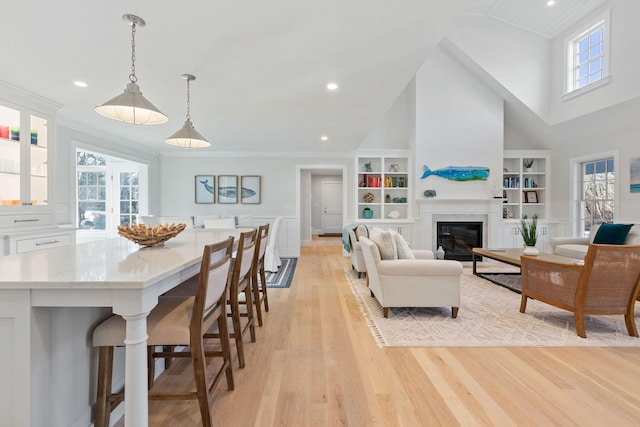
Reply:
<svg viewBox="0 0 640 427"><path fill-rule="evenodd" d="M217 425L640 425L640 347L378 348L337 241L302 248L291 288L269 290L236 389L215 391ZM158 386L190 378L178 363ZM197 404L150 402L150 423L198 426Z"/></svg>

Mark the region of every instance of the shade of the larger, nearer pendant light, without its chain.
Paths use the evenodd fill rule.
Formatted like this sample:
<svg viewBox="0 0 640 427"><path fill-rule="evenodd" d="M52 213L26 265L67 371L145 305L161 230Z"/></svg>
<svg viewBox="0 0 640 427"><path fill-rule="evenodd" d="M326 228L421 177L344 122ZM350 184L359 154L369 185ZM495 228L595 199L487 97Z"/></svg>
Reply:
<svg viewBox="0 0 640 427"><path fill-rule="evenodd" d="M135 83L127 84L123 93L97 106L96 112L110 119L135 125L156 125L169 120L155 105L142 96L140 87Z"/></svg>

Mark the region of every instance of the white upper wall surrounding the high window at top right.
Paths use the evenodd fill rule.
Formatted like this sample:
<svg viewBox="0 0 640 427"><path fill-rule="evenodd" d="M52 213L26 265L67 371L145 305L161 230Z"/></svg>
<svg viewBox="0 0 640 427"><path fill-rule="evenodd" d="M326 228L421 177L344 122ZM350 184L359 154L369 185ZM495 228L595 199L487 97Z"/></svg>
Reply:
<svg viewBox="0 0 640 427"><path fill-rule="evenodd" d="M576 31L595 23L597 17L608 8L611 9L611 52L609 52L611 82L563 101L565 39ZM553 39L550 67L550 123L563 122L640 96L638 83L640 56L634 54L640 40L639 16L639 1L611 0Z"/></svg>

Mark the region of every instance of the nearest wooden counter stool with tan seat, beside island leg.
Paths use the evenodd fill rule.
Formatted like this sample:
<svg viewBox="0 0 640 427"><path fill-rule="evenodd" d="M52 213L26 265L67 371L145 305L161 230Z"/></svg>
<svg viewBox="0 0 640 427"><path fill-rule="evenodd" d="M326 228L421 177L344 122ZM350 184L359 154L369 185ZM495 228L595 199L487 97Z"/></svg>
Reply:
<svg viewBox="0 0 640 427"><path fill-rule="evenodd" d="M233 390L233 371L227 329L227 290L233 251L233 237L223 242L206 245L202 255L198 290L195 296L160 297L158 305L147 318L148 345L150 349L162 346L171 351L150 350L151 363L155 357L189 357L193 367L196 390L174 393L149 392L150 400L197 399L202 425L212 425L209 396L213 388L226 375L227 388ZM205 339L213 338L207 333L217 322L221 350L205 350ZM93 345L99 347L98 385L96 396L96 427L109 425L113 408L124 400L124 392L112 393L114 347L124 345L126 324L121 316L111 316L93 332ZM176 346L188 346L187 351L173 351ZM209 383L206 359L221 357L222 364ZM153 365L151 365L152 367ZM153 384L153 369L150 369L150 388Z"/></svg>

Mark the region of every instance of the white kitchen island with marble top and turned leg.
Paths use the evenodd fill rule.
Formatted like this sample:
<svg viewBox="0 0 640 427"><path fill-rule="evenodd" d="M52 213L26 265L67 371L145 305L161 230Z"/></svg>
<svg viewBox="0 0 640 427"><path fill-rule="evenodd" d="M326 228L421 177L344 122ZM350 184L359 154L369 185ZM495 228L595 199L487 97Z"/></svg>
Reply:
<svg viewBox="0 0 640 427"><path fill-rule="evenodd" d="M125 425L147 426L147 315L159 295L198 273L205 244L239 233L191 229L152 248L117 237L0 257L0 426L50 425L55 394L64 393L50 380L63 356L51 337L64 333L51 331L41 310L53 307L110 307L126 320Z"/></svg>

